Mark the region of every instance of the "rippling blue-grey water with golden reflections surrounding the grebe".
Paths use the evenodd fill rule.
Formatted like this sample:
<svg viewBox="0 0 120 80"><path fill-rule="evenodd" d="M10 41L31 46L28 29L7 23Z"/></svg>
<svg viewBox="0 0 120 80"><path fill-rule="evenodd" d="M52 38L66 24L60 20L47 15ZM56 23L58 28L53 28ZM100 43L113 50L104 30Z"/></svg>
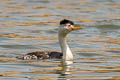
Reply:
<svg viewBox="0 0 120 80"><path fill-rule="evenodd" d="M0 80L119 80L119 0L0 0ZM73 64L24 61L36 50L58 50L57 26L67 18L86 29L68 35Z"/></svg>

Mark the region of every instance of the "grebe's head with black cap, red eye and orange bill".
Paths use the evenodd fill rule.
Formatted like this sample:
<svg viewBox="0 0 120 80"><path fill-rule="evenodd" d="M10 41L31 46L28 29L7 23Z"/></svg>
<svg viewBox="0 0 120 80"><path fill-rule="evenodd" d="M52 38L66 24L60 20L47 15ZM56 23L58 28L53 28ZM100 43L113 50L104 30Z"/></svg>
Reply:
<svg viewBox="0 0 120 80"><path fill-rule="evenodd" d="M73 30L79 30L83 29L83 27L75 27L74 22L64 19L60 21L60 26L59 26L59 33L67 35L69 32Z"/></svg>

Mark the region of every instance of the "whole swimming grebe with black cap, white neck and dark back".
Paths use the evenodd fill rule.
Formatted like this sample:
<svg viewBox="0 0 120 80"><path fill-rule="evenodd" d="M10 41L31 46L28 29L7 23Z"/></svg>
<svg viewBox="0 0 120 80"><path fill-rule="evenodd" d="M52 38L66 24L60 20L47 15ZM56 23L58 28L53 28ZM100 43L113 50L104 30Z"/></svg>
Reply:
<svg viewBox="0 0 120 80"><path fill-rule="evenodd" d="M66 36L69 32L73 30L84 29L83 27L74 27L74 23L70 20L64 19L60 21L60 26L58 30L58 39L62 52L56 51L36 51L30 52L25 55L17 57L18 59L23 60L32 60L32 59L52 59L58 58L61 59L63 56L64 60L73 60L73 54L67 45Z"/></svg>

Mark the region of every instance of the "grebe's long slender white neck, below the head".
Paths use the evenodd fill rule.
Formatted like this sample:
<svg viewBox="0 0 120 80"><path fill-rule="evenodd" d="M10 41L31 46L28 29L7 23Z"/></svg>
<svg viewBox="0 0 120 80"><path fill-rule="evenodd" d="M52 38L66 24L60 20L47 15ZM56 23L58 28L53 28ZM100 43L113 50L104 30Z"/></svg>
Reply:
<svg viewBox="0 0 120 80"><path fill-rule="evenodd" d="M59 37L59 44L63 53L63 59L69 61L69 60L73 60L73 54L69 46L67 45L66 35L67 34L64 35L61 32L59 32L58 37Z"/></svg>

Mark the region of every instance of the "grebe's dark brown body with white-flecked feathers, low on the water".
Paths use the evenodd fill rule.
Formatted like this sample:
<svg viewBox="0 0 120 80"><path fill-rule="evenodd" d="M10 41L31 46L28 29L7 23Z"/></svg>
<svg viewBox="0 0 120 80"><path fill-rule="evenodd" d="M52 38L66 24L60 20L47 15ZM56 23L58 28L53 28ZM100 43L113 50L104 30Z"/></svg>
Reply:
<svg viewBox="0 0 120 80"><path fill-rule="evenodd" d="M16 57L22 60L62 59L63 53L57 51L35 51Z"/></svg>

